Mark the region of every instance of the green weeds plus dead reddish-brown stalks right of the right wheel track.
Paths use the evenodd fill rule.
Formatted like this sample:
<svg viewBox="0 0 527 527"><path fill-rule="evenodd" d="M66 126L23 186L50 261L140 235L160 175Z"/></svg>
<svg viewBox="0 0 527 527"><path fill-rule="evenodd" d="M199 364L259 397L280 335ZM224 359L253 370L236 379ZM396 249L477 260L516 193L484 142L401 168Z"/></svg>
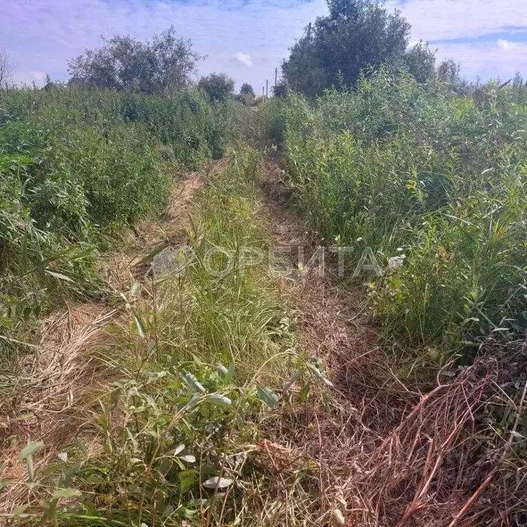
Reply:
<svg viewBox="0 0 527 527"><path fill-rule="evenodd" d="M366 459L360 432L342 446L347 466L359 467L338 484L358 507L351 517L524 524L525 88L490 82L456 93L385 69L354 91L273 105L292 202L315 239L351 251L340 288L362 292L358 312L376 323L386 353L379 373L374 355L362 362L349 351L349 368L371 375L361 385L363 374L344 368L351 390L373 385L387 397L357 401L362 416L377 416L357 430L375 437L386 401L401 411ZM369 270L353 275L358 264Z"/></svg>

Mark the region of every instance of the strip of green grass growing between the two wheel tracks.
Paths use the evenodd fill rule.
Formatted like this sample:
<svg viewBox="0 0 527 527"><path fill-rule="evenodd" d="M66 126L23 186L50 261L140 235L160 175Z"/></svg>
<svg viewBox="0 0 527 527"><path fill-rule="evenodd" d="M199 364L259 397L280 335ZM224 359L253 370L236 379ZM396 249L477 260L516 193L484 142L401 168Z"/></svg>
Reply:
<svg viewBox="0 0 527 527"><path fill-rule="evenodd" d="M46 445L21 451L36 468L27 482L6 485L33 490L4 517L21 525L212 526L258 525L257 515L272 514L259 419L278 406L273 390L286 364L303 366L289 387L309 371L314 380L321 374L294 351L290 313L266 263L237 257L242 247L265 246L258 160L244 145L231 150L193 204L179 250L194 257L126 294L127 317L89 351L110 388L96 403L84 398L76 410L84 425L63 438L58 462L37 461ZM207 266L205 255L219 246ZM233 266L220 276L226 255Z"/></svg>

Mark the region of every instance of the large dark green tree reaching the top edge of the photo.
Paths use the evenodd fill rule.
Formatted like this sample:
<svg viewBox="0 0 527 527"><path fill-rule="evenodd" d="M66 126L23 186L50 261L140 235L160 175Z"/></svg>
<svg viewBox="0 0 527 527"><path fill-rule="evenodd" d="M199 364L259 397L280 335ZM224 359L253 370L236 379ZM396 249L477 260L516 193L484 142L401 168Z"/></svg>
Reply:
<svg viewBox="0 0 527 527"><path fill-rule="evenodd" d="M408 50L410 24L398 10L388 12L376 0L327 0L327 5L329 15L309 25L283 62L293 90L314 96L331 86L352 88L361 71L382 64L406 66L420 81L434 74L428 44Z"/></svg>

